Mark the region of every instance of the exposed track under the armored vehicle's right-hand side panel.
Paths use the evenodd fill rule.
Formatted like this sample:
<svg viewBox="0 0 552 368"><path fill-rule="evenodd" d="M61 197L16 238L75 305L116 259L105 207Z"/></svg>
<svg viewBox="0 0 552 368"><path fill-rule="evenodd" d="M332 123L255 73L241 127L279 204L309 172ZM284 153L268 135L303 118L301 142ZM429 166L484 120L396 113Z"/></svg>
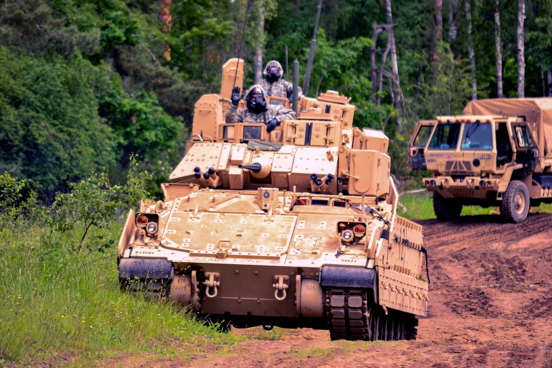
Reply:
<svg viewBox="0 0 552 368"><path fill-rule="evenodd" d="M368 303L368 291L332 287L326 290L326 314L332 340L414 340L418 317Z"/></svg>

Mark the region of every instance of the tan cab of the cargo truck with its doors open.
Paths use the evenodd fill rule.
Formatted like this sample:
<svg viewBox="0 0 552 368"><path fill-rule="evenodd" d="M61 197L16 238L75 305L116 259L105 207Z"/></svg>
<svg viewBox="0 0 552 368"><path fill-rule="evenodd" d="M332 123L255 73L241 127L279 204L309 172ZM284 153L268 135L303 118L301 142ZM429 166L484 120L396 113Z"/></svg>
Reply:
<svg viewBox="0 0 552 368"><path fill-rule="evenodd" d="M433 208L440 220L458 218L464 204L476 204L501 206L508 220L520 222L529 209L531 173L538 158L531 124L523 117L460 115L422 120L408 145L412 169L433 175L423 178L423 185L434 193ZM516 181L515 193L508 192L512 181ZM505 202L502 208L505 197L512 203Z"/></svg>

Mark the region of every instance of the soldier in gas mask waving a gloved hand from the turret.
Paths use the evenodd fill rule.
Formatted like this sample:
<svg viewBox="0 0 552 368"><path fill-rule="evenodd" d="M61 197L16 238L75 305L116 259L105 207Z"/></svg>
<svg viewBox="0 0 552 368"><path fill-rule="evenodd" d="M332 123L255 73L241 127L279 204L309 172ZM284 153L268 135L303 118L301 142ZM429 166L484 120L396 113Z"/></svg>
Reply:
<svg viewBox="0 0 552 368"><path fill-rule="evenodd" d="M226 111L226 123L263 123L267 132L272 132L282 120L295 119L295 112L280 105L269 105L263 88L255 85L250 88L245 98L246 109L239 109L241 94L240 87L232 90L232 103Z"/></svg>

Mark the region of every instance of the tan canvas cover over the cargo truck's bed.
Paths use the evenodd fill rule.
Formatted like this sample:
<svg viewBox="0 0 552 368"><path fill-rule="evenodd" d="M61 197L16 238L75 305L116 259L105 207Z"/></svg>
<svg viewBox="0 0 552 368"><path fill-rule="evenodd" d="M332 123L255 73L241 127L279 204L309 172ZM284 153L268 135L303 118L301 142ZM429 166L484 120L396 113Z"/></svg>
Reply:
<svg viewBox="0 0 552 368"><path fill-rule="evenodd" d="M525 117L528 123L536 123L540 154L552 157L552 98L496 98L470 101L464 115L499 115ZM539 165L540 166L540 165Z"/></svg>

